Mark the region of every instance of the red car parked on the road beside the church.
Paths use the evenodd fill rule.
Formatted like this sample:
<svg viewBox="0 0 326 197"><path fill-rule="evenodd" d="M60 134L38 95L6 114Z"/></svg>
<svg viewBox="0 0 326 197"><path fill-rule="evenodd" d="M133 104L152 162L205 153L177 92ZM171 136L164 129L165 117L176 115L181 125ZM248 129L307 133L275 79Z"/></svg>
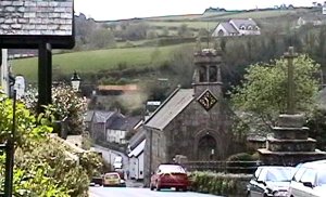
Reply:
<svg viewBox="0 0 326 197"><path fill-rule="evenodd" d="M156 172L151 176L150 189L175 187L176 191L186 192L189 180L185 169L179 165L160 165Z"/></svg>

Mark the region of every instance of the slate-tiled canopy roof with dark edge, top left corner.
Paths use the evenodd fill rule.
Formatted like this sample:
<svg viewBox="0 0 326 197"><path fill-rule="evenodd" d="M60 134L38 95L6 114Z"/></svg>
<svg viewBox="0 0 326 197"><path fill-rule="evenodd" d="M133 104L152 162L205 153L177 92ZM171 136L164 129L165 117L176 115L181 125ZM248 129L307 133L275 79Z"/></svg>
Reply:
<svg viewBox="0 0 326 197"><path fill-rule="evenodd" d="M71 49L74 38L74 0L1 0L0 48Z"/></svg>

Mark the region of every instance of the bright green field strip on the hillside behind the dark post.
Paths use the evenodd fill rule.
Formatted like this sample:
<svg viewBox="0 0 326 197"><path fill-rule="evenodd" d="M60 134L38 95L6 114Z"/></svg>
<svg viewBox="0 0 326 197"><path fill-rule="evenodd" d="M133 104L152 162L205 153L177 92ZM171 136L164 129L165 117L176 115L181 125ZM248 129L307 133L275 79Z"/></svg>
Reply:
<svg viewBox="0 0 326 197"><path fill-rule="evenodd" d="M184 44L159 48L128 48L98 51L83 51L53 55L53 69L63 74L97 73L117 68L120 64L129 66L156 66L170 58L171 53ZM155 54L155 55L154 55ZM154 55L154 57L153 57ZM37 58L21 58L12 63L15 75L24 75L30 81L37 81Z"/></svg>

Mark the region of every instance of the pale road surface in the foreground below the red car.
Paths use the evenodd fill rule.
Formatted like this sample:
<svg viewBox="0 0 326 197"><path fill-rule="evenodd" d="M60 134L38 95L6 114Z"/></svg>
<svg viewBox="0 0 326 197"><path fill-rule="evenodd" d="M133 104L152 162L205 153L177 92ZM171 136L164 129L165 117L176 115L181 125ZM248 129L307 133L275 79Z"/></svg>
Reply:
<svg viewBox="0 0 326 197"><path fill-rule="evenodd" d="M214 195L175 192L172 189L162 189L160 192L150 191L149 188L130 188L130 187L90 187L90 197L217 197Z"/></svg>

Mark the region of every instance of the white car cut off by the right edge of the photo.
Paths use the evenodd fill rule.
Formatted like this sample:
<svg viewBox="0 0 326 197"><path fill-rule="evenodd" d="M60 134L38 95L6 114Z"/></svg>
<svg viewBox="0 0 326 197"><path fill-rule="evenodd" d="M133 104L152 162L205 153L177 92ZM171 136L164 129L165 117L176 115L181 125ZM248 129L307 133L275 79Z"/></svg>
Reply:
<svg viewBox="0 0 326 197"><path fill-rule="evenodd" d="M326 160L300 165L291 180L289 197L322 196L326 196Z"/></svg>

